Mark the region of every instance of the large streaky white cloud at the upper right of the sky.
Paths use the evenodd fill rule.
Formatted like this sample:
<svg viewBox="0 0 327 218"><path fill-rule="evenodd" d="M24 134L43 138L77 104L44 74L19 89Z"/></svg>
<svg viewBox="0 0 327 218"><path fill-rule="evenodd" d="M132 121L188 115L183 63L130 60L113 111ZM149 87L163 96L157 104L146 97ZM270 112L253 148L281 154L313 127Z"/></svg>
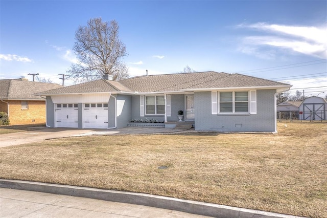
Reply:
<svg viewBox="0 0 327 218"><path fill-rule="evenodd" d="M278 47L294 52L327 58L327 27L285 26L276 24L257 23L239 25L238 27L259 30L268 35L247 36L243 39L243 47L253 47L260 50L260 46ZM272 35L271 35L272 34ZM248 53L246 50L244 53Z"/></svg>

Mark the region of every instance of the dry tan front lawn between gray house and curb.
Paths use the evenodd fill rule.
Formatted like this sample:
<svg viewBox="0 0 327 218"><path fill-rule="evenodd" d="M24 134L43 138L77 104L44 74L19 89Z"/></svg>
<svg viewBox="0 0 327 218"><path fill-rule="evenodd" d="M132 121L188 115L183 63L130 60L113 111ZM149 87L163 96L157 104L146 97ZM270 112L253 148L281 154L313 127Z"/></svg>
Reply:
<svg viewBox="0 0 327 218"><path fill-rule="evenodd" d="M278 131L92 136L4 147L0 178L327 217L327 123L278 123Z"/></svg>

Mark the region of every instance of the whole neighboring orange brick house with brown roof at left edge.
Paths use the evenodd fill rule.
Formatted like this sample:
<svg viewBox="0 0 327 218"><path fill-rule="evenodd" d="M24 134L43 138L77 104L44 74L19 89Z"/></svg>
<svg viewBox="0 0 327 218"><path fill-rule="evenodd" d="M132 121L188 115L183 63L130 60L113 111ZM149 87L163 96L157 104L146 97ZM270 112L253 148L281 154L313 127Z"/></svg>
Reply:
<svg viewBox="0 0 327 218"><path fill-rule="evenodd" d="M45 123L45 99L33 94L57 88L62 86L22 78L0 80L0 111L8 114L10 125Z"/></svg>

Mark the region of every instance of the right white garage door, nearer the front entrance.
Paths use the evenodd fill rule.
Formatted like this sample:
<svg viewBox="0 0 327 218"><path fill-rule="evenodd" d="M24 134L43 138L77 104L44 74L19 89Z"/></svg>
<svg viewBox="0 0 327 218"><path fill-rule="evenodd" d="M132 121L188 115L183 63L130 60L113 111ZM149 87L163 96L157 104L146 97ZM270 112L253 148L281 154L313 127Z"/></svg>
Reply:
<svg viewBox="0 0 327 218"><path fill-rule="evenodd" d="M108 128L108 104L85 103L83 107L83 128Z"/></svg>

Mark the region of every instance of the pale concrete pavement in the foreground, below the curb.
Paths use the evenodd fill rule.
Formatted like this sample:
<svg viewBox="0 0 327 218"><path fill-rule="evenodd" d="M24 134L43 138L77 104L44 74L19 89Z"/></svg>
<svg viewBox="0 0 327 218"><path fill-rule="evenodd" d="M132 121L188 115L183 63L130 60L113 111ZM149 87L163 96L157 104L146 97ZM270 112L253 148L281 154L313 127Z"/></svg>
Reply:
<svg viewBox="0 0 327 218"><path fill-rule="evenodd" d="M0 217L205 217L142 205L0 188Z"/></svg>

